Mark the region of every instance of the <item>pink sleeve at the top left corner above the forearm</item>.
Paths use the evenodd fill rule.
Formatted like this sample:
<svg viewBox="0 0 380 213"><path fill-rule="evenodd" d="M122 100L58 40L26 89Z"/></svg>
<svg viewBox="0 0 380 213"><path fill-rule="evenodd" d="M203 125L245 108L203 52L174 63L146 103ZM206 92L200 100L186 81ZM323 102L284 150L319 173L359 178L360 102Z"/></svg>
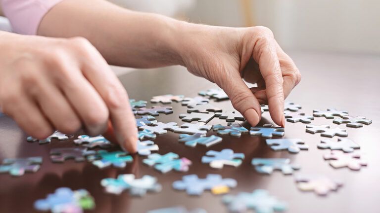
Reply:
<svg viewBox="0 0 380 213"><path fill-rule="evenodd" d="M18 34L36 35L47 11L62 0L1 0L2 10Z"/></svg>

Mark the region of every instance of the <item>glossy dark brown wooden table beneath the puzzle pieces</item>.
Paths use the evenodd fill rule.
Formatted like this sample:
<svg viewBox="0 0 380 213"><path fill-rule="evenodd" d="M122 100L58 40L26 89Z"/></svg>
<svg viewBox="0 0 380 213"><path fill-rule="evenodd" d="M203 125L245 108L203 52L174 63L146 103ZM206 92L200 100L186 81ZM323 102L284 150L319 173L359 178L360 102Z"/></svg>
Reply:
<svg viewBox="0 0 380 213"><path fill-rule="evenodd" d="M189 158L193 165L188 173L169 172L160 174L153 168L142 164L142 157L135 156L132 164L125 169L108 168L99 170L91 163L75 163L67 161L63 164L51 163L49 150L53 147L74 146L69 142L54 141L51 144L39 145L26 142L22 130L8 117L0 117L0 159L6 157L43 156L44 163L35 174L13 178L7 174L0 175L0 212L18 213L33 212L33 202L45 198L55 188L67 186L72 189L85 188L95 197L98 213L140 213L147 210L183 205L189 209L204 208L210 213L227 212L221 202L221 196L203 193L200 197L188 196L185 192L175 191L171 184L186 174L197 174L204 178L206 174L221 174L225 178L236 178L237 188L231 193L252 191L263 188L271 194L288 203L287 212L291 213L376 213L380 211L380 57L334 55L316 53L291 53L303 74L302 82L290 95L288 100L302 105L302 110L308 114L313 109L336 107L347 109L351 115L364 115L373 119L373 124L363 128L353 129L340 125L348 132L348 138L361 145L361 150L367 154L368 167L361 171L350 171L347 168L333 169L323 159L328 150L317 148L322 139L319 134L305 133L305 124L286 122L285 137L303 139L309 146L308 151L289 154L287 151L275 152L265 144L261 137L243 135L241 138L223 137L223 142L205 148L197 146L190 148L178 142L178 134L169 132L154 140L159 145L159 153L169 151ZM204 79L192 76L186 69L180 67L159 70L135 71L120 77L131 98L150 100L154 95L182 94L193 97L199 90L212 88L213 84ZM229 101L214 103L225 109L232 109ZM150 106L150 104L149 104ZM178 114L186 112L186 107L173 103L174 113L160 114L158 121L183 122ZM268 112L264 113L263 123L271 122ZM208 124L226 124L224 120L214 118ZM332 119L315 118L312 124L329 124ZM245 124L246 125L246 124ZM248 127L246 125L246 127ZM209 131L208 135L215 134ZM334 137L336 140L336 137ZM208 149L221 150L232 148L235 152L245 153L245 160L238 168L225 167L213 170L208 165L200 163L201 157ZM324 174L331 178L340 178L344 186L327 197L318 197L313 192L301 192L294 183L293 176L284 176L275 172L271 176L261 175L254 171L250 161L254 157L290 158L292 162L301 165L297 173ZM132 198L128 193L120 196L104 193L100 180L116 177L118 174L133 173L137 177L152 175L163 185L160 193L143 198Z"/></svg>

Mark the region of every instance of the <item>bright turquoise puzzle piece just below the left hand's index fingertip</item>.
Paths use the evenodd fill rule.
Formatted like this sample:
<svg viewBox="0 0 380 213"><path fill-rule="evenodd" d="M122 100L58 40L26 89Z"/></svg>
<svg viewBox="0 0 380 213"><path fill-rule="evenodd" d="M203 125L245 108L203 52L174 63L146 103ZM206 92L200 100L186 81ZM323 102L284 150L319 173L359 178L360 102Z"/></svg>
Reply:
<svg viewBox="0 0 380 213"><path fill-rule="evenodd" d="M99 150L95 155L88 156L87 159L100 169L111 165L117 168L124 168L127 162L133 161L132 156L127 154L127 152L123 151L108 152L106 150Z"/></svg>

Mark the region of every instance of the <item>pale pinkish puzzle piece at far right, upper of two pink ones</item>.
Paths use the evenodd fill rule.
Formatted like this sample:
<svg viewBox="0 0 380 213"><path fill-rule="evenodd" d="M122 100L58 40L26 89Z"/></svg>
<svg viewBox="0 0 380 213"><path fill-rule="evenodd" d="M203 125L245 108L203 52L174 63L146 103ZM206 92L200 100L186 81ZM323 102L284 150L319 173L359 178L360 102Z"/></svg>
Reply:
<svg viewBox="0 0 380 213"><path fill-rule="evenodd" d="M348 167L351 170L360 170L362 166L367 166L367 160L363 159L359 152L344 153L333 150L330 154L323 156L325 160L330 160L333 168Z"/></svg>

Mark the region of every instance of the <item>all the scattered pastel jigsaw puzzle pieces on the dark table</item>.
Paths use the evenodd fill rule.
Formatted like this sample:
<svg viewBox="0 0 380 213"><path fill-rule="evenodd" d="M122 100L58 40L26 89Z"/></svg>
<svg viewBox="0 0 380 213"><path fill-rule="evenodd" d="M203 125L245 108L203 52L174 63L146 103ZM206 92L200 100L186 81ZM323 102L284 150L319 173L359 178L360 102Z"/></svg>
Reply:
<svg viewBox="0 0 380 213"><path fill-rule="evenodd" d="M130 100L130 105L136 115L136 128L139 130L138 152L142 163L154 168L161 174L171 171L186 173L192 162L181 157L174 152L159 154L159 146L154 141L157 135L168 133L168 131L178 133L178 142L185 147L195 147L202 145L209 148L217 143L223 142L228 136L241 137L246 134L250 137L262 137L266 144L274 151L287 151L289 153L299 153L301 150L307 151L309 145L302 139L285 138L285 128L274 127L272 124L256 126L247 129L238 123L245 121L245 118L238 111L223 110L211 104L211 99L228 100L228 96L221 89L209 89L199 92L200 96L193 98L183 95L161 95L154 96L150 100L155 106L147 107L147 101ZM184 121L182 125L177 122L159 122L157 117L160 114L174 113L172 106L167 106L173 102L181 103L187 107L188 113L178 114L178 118ZM216 103L216 102L215 102ZM215 104L214 103L214 104ZM160 106L163 105L163 106ZM314 117L325 117L333 119L334 124L346 124L346 127L360 128L370 125L372 120L364 116L351 116L346 110L328 108L327 110L313 110L312 115L307 115L300 111L300 105L286 102L284 115L286 121L306 124L307 133L320 134L321 137L347 137L345 129L331 128L330 125L311 124ZM261 105L261 113L269 111L269 107ZM216 124L207 125L212 119L225 120L227 125ZM206 134L213 130L216 134ZM67 142L73 136L68 136L60 132L54 132L44 140L32 137L27 138L27 142L38 142L39 144L49 144L54 141ZM67 160L76 162L88 161L94 166L103 169L106 167L125 168L131 163L135 153L128 153L118 149L116 145L109 142L103 136L90 137L80 135L73 140L72 147L54 148L50 150L50 160L53 163L64 163ZM333 168L347 167L350 170L360 170L367 166L364 155L357 151L360 145L348 138L321 139L317 145L319 149L330 149L322 157L329 161ZM117 150L110 151L110 148ZM224 166L238 167L245 160L244 153L235 153L232 149L208 150L199 159L203 164L209 165L212 169L223 169ZM284 175L292 175L302 168L294 164L288 158L253 158L250 159L252 167L257 173L271 175L275 171L280 171ZM25 172L37 172L43 164L42 157L28 157L22 159L3 159L0 165L0 173L9 173L12 176L23 176ZM314 191L317 195L328 195L331 191L338 190L343 185L342 181L329 178L323 174L298 174L295 175L294 182L303 191ZM162 185L156 177L144 175L141 178L133 174L121 174L117 178L104 178L100 185L105 192L111 194L121 194L128 191L131 196L144 197L146 193L159 193ZM201 196L205 190L212 194L227 194L231 188L235 188L238 181L233 178L223 178L217 174L209 174L205 178L199 178L196 174L185 175L181 180L174 181L172 187L178 191L186 191L189 195ZM237 195L225 195L221 203L224 203L230 212L245 212L254 210L257 213L283 212L287 209L285 201L278 200L270 195L267 190L256 189L253 192L239 192ZM35 209L51 212L82 212L95 208L94 199L88 191L80 189L72 191L69 188L58 188L53 194L49 194L46 199L37 200ZM149 213L185 213L188 210L184 207L168 207L164 209L151 210ZM205 213L203 209L194 209L191 213Z"/></svg>

